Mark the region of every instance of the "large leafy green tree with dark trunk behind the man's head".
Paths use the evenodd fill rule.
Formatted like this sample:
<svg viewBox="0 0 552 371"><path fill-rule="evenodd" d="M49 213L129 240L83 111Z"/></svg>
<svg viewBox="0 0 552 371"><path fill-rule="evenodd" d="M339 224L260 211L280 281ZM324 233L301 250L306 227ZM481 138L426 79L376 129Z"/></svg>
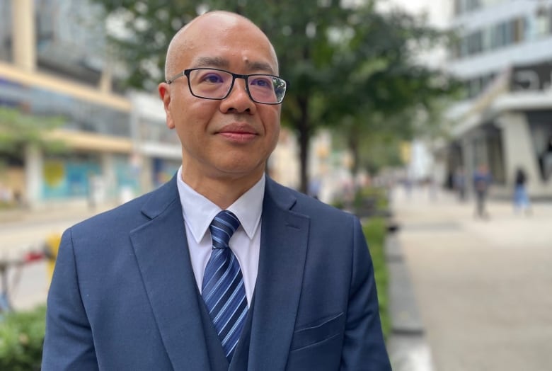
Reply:
<svg viewBox="0 0 552 371"><path fill-rule="evenodd" d="M411 56L415 41L435 42L442 35L404 13L377 13L371 0L358 6L335 0L92 1L125 30L111 32L111 40L132 62L127 83L145 89L163 79L168 41L197 13L225 9L258 24L278 52L280 75L290 82L282 122L298 135L302 191L317 127L343 125L345 116L361 125L366 110L394 113L438 91L427 85L434 74L414 66Z"/></svg>

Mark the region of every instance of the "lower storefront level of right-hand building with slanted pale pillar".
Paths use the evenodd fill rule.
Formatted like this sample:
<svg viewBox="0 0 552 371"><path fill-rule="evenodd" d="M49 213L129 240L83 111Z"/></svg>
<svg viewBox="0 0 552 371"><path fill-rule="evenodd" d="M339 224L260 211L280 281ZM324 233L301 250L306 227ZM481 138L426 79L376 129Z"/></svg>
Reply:
<svg viewBox="0 0 552 371"><path fill-rule="evenodd" d="M531 198L552 199L551 77L552 63L517 66L499 76L459 120L448 151L449 173L461 168L469 179L485 164L493 175L493 195L510 198L514 174L523 169Z"/></svg>

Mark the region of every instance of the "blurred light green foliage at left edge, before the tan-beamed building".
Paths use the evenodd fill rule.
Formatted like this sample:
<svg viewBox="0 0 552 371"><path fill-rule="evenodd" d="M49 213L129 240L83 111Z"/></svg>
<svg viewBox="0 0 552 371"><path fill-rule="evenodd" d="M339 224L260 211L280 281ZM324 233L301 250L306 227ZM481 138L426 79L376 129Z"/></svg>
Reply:
<svg viewBox="0 0 552 371"><path fill-rule="evenodd" d="M48 139L46 133L63 124L61 118L44 118L0 106L0 153L21 155L25 144L37 144L50 152L59 152L64 144Z"/></svg>

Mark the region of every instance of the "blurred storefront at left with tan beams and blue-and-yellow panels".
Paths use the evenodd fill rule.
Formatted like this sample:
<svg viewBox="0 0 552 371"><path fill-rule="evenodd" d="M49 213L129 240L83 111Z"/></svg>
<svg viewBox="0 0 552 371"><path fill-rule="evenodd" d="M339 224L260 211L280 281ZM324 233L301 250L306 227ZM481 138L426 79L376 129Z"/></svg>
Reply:
<svg viewBox="0 0 552 371"><path fill-rule="evenodd" d="M23 144L9 155L9 161L7 154L0 154L0 161L15 174L4 185L12 194L38 207L74 200L116 201L122 188L137 193L138 180L130 161L130 104L120 97L115 104L103 104L105 97L92 89L40 73L35 76L37 84L29 84L29 76L18 77L0 73L0 105L35 118L33 126L43 142L61 146L52 151L47 146ZM44 122L52 118L60 126L45 129ZM23 181L17 174L23 174Z"/></svg>

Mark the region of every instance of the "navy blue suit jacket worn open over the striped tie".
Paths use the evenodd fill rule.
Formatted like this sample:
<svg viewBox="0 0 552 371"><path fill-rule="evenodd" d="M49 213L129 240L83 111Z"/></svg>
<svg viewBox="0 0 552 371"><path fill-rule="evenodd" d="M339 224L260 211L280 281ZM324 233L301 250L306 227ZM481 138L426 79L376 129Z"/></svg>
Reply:
<svg viewBox="0 0 552 371"><path fill-rule="evenodd" d="M247 369L391 370L357 217L267 178L261 234ZM173 178L64 233L42 370L228 370L202 305Z"/></svg>

